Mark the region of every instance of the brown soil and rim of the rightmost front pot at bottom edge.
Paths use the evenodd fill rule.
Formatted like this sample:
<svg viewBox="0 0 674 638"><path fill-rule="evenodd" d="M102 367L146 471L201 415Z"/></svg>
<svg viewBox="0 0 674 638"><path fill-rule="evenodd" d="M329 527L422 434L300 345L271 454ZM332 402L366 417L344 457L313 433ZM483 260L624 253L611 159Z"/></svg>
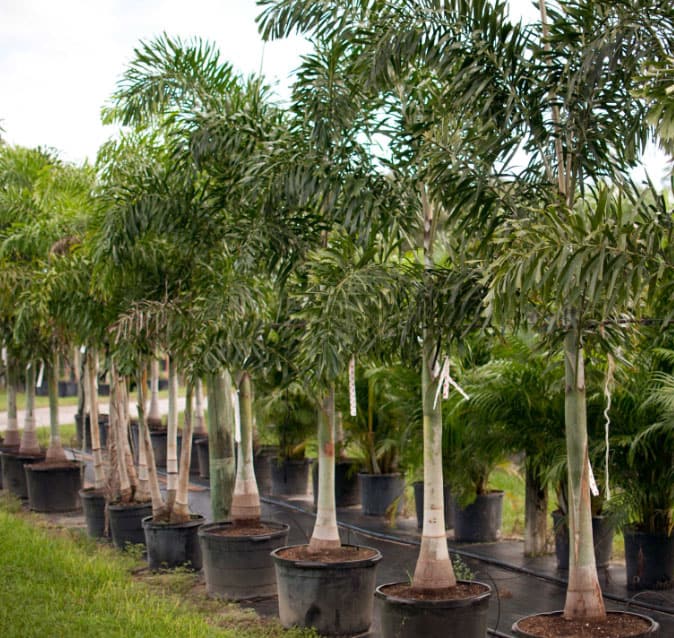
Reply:
<svg viewBox="0 0 674 638"><path fill-rule="evenodd" d="M565 620L561 611L536 614L513 625L521 638L652 638L660 626L651 618L622 611L609 611L606 620Z"/></svg>

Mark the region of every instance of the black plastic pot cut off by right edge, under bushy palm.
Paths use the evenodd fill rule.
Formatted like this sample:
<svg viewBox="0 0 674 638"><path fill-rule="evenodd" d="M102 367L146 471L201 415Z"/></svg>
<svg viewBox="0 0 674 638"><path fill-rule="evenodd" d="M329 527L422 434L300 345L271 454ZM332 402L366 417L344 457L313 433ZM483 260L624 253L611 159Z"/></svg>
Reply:
<svg viewBox="0 0 674 638"><path fill-rule="evenodd" d="M623 529L628 589L674 588L674 534Z"/></svg>

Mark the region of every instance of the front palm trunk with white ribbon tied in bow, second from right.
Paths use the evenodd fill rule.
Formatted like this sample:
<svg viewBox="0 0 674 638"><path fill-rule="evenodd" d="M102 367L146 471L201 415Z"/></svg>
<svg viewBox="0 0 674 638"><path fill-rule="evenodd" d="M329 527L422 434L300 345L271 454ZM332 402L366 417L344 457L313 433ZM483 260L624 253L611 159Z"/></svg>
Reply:
<svg viewBox="0 0 674 638"><path fill-rule="evenodd" d="M422 356L422 402L424 413L424 523L421 548L412 587L419 591L446 589L456 585L447 550L444 489L442 480L442 408L437 397L439 375L435 341L424 336Z"/></svg>

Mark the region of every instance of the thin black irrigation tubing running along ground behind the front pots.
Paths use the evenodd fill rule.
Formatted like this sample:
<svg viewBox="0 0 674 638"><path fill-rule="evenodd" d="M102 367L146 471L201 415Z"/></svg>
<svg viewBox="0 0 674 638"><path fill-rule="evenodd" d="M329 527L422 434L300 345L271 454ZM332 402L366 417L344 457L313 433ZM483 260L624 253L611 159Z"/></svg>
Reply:
<svg viewBox="0 0 674 638"><path fill-rule="evenodd" d="M300 507L298 505L294 505L292 503L287 503L282 500L278 499L272 499L269 497L261 497L261 500L263 500L266 503L269 503L270 505L278 505L279 507L286 507L289 509L294 509L297 510L298 512L303 512L304 514L308 515L313 515L313 512L308 511L307 509ZM356 532L358 534L361 534L363 536L371 536L372 538L378 538L380 540L384 541L389 541L393 543L399 543L402 545L420 545L421 542L413 539L413 538L400 538L398 536L394 536L392 534L386 534L384 532L376 532L373 530L369 529L364 529L362 527L358 527L357 525L353 525L351 523L344 523L340 522L338 523L340 527L343 527L344 529L349 529L352 532ZM459 556L462 556L463 558L470 558L472 560L477 560L482 563L486 563L488 565L492 565L494 567L499 567L500 569L504 569L507 571L513 571L513 572L518 572L520 574L524 574L526 576L533 576L535 578L540 578L542 580L549 581L551 583L554 583L556 585L562 585L563 587L567 586L567 581L564 580L563 578L557 578L555 576L548 576L546 574L541 574L538 572L535 572L532 569L528 569L526 567L522 567L520 565L511 565L510 563L506 563L505 561L499 560L497 558L490 558L489 556L483 556L481 554L476 554L474 552L466 551L465 549L457 549L455 547L450 547L450 551L454 554L458 554ZM641 592L646 593L646 592ZM614 602L622 603L626 607L642 607L644 609L650 609L652 611L657 611L661 614L667 614L667 615L674 615L674 610L672 610L671 607L664 607L663 605L658 605L656 603L649 603L649 602L644 602L644 601L638 601L635 600L636 596L633 596L631 598L625 598L624 596L618 596L617 594L611 594L611 593L604 593L604 598L608 600L612 600ZM640 594L637 594L637 596ZM493 635L499 635L499 634L493 634ZM503 634L501 634L503 635ZM507 635L507 634L506 634Z"/></svg>

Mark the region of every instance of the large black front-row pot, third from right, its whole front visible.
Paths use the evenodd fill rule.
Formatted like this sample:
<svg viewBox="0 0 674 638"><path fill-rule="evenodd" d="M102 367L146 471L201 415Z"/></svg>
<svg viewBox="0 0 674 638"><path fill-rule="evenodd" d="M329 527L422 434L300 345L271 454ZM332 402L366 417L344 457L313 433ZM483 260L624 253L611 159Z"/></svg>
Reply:
<svg viewBox="0 0 674 638"><path fill-rule="evenodd" d="M348 636L366 632L372 623L373 593L381 553L343 563L283 558L272 552L281 624L314 627L319 634Z"/></svg>

